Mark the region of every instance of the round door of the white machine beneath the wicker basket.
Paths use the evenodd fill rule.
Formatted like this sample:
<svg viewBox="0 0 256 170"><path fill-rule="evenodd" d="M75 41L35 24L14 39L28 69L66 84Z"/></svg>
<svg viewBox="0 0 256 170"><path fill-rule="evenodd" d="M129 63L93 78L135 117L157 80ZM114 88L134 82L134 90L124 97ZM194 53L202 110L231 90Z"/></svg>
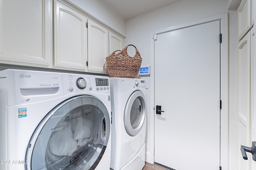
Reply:
<svg viewBox="0 0 256 170"><path fill-rule="evenodd" d="M129 97L124 110L124 127L130 136L136 136L146 121L146 99L141 91Z"/></svg>

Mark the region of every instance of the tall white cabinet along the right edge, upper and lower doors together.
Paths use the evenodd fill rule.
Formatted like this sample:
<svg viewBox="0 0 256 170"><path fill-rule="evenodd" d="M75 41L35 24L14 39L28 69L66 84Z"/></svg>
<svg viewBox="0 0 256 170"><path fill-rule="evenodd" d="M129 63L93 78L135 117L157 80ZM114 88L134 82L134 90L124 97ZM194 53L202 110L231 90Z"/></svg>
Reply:
<svg viewBox="0 0 256 170"><path fill-rule="evenodd" d="M254 0L242 0L238 6L238 56L237 56L237 141L236 166L238 170L254 170L252 154L242 158L241 145L251 147L255 141L254 130Z"/></svg>

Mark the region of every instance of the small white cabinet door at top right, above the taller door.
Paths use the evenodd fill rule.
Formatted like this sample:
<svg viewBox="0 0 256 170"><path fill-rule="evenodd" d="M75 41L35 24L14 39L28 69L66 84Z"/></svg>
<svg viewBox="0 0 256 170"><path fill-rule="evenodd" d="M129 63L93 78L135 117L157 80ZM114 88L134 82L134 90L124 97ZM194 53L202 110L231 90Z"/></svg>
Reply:
<svg viewBox="0 0 256 170"><path fill-rule="evenodd" d="M238 7L238 40L240 41L251 28L251 0L242 0Z"/></svg>

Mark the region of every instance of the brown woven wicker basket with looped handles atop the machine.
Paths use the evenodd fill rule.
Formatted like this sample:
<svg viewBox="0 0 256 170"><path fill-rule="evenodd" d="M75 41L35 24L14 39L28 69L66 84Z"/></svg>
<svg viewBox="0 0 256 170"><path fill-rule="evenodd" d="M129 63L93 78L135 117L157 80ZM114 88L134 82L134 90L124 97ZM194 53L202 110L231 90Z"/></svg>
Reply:
<svg viewBox="0 0 256 170"><path fill-rule="evenodd" d="M127 45L119 53L114 51L110 56L106 57L106 66L110 77L135 78L140 70L142 58L140 52L135 47L134 57L130 57L127 53ZM116 54L115 54L116 53Z"/></svg>

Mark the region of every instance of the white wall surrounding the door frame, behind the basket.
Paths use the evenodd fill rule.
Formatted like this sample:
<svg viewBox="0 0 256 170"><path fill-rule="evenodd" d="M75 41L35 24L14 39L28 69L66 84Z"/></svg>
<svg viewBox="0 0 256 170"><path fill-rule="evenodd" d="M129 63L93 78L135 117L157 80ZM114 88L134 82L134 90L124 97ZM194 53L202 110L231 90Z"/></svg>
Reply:
<svg viewBox="0 0 256 170"><path fill-rule="evenodd" d="M171 4L170 6L166 6L158 10L149 12L147 14L143 14L136 18L127 20L126 39L124 40L124 44L135 45L142 56L142 66L150 65L150 39L152 38L150 37L151 31L179 25L181 23L186 23L189 21L207 18L217 14L223 14L225 12L228 12L228 2L226 0L182 0ZM231 41L229 42L229 53L230 55L232 55L229 57L229 81L231 83L229 88L229 93L231 94L229 102L232 102L229 108L229 110L232 111L229 112L229 169L234 170L234 142L236 141L236 12L231 11L229 17L229 33ZM150 89L150 77L144 76L142 78L145 78L147 80ZM147 101L149 101L149 98L150 90L147 91ZM147 109L147 113L149 113L149 109L153 108L150 108L150 106L148 106ZM154 141L152 141L152 136L154 135L154 121L150 120L149 116L147 121L148 131L146 136L146 161L153 163Z"/></svg>

